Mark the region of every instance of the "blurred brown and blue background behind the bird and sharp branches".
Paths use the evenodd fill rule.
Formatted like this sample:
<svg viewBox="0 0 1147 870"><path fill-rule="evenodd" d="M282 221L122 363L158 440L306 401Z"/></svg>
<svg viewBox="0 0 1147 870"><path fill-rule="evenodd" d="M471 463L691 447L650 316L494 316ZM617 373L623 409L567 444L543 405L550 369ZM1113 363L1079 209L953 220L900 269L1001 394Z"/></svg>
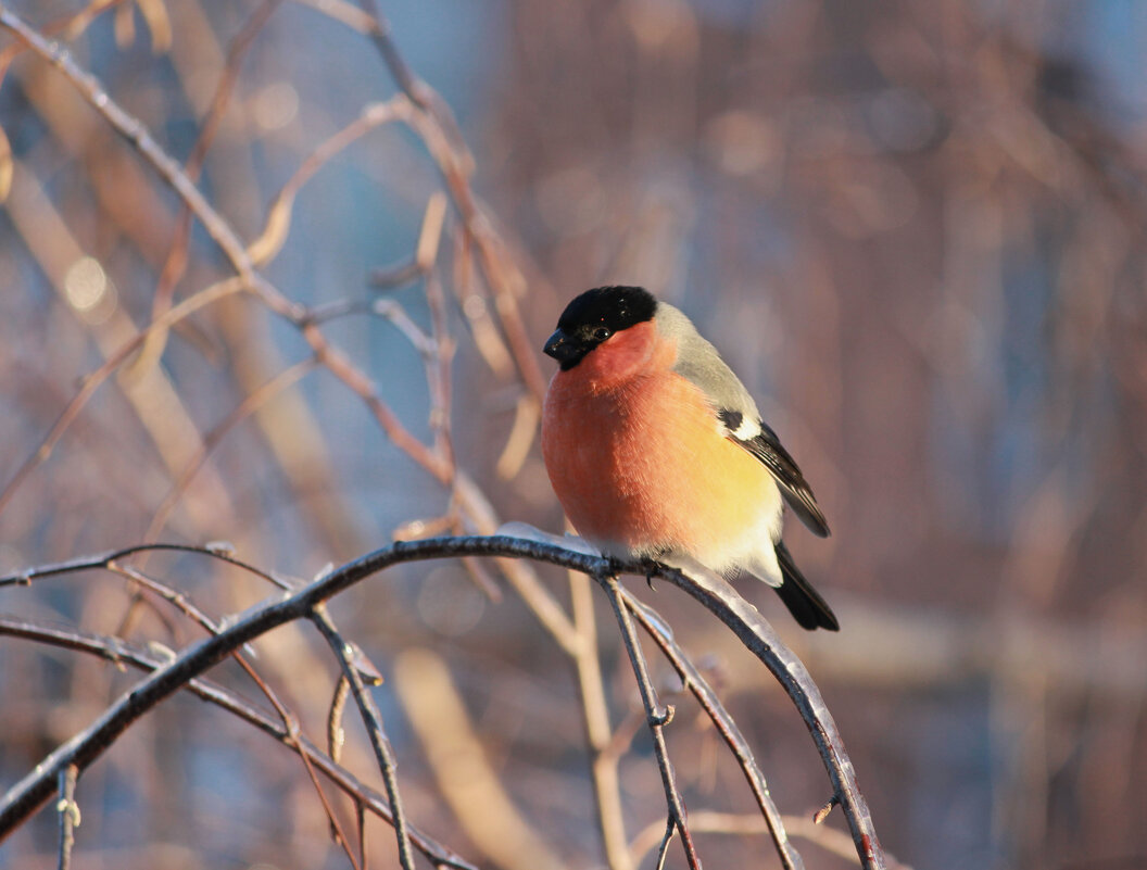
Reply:
<svg viewBox="0 0 1147 870"><path fill-rule="evenodd" d="M1147 868L1147 5L385 0L437 94L405 110L349 3L5 6L188 165L338 358L315 362L253 293L125 351L234 269L198 222L181 251L182 202L5 31L0 571L226 540L310 578L395 534L557 532L533 439L540 345L580 290L642 284L721 350L829 518L827 541L798 524L787 539L840 635L741 590L821 687L885 848L938 870ZM372 115L382 101L397 120ZM190 556L146 571L214 617L268 594ZM564 604L564 575L538 573ZM781 810L811 817L829 786L787 698L696 604L641 586ZM637 731L627 836L660 836L604 604L612 723ZM406 566L331 610L387 677L423 830L483 867L604 865L569 658L492 565ZM108 573L0 588L0 611L171 648L202 635ZM320 739L335 667L306 629L253 661ZM251 692L233 665L212 676ZM138 679L0 635L0 783ZM457 704L428 712L434 692ZM751 813L676 703L690 810ZM481 746L506 801L490 806L520 823L508 854L470 815L482 800L453 794L450 746ZM346 752L369 778L360 730ZM78 799L83 867L348 865L297 759L189 698L135 724ZM41 812L0 864L47 865L55 838ZM372 838L385 856L385 829ZM814 839L795 840L806 867L850 865ZM779 867L760 836L699 845L708 865Z"/></svg>

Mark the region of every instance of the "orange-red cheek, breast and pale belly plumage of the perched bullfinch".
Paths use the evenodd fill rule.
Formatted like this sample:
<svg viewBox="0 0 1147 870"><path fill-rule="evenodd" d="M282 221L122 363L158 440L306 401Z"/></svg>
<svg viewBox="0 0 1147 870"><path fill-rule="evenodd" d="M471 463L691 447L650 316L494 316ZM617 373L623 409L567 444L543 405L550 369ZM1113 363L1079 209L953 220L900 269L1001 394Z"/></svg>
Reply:
<svg viewBox="0 0 1147 870"><path fill-rule="evenodd" d="M747 535L766 534L779 496L764 465L724 436L704 393L672 370L676 360L654 322L616 332L554 376L541 449L579 534L721 570L709 559L727 562Z"/></svg>

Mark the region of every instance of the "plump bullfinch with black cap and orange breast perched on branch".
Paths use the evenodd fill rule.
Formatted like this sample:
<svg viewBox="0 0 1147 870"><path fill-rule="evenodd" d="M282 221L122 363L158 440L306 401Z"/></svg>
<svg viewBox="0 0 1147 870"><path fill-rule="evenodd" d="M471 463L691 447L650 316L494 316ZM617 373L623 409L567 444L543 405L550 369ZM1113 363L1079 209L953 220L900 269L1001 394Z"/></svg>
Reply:
<svg viewBox="0 0 1147 870"><path fill-rule="evenodd" d="M804 628L840 629L781 541L782 500L821 538L825 515L685 314L639 287L599 287L565 307L545 352L560 370L541 452L578 534L607 555L748 572Z"/></svg>

